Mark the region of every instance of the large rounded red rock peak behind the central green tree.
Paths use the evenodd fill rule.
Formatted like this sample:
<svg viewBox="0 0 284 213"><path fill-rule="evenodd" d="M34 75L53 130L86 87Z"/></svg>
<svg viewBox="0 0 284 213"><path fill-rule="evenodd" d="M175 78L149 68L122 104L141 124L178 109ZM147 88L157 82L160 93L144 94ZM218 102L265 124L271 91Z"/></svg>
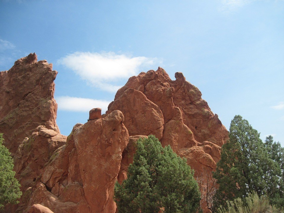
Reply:
<svg viewBox="0 0 284 213"><path fill-rule="evenodd" d="M106 115L120 110L130 136L155 135L163 146L170 144L179 156L187 158L196 171L196 178L200 178L204 172L211 174L216 168L228 132L217 114L201 99L198 88L180 72L175 73L175 78L171 80L160 67L129 78L117 91ZM134 152L130 140L122 154L120 182L127 178L127 167L133 161ZM206 202L201 202L207 212Z"/></svg>

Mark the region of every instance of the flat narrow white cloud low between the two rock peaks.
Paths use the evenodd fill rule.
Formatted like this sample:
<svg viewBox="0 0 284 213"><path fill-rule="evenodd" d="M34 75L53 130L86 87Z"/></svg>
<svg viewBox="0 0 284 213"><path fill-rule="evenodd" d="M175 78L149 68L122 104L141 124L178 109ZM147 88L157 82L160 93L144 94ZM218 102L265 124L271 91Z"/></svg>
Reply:
<svg viewBox="0 0 284 213"><path fill-rule="evenodd" d="M102 113L107 110L111 101L59 96L56 98L58 109L73 112L89 112L93 108L101 108Z"/></svg>

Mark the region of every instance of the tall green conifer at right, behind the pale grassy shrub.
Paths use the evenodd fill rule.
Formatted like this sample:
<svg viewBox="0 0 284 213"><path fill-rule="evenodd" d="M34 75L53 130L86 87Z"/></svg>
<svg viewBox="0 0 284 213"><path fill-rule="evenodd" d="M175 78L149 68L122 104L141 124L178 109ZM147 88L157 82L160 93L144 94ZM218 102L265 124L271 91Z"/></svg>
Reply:
<svg viewBox="0 0 284 213"><path fill-rule="evenodd" d="M246 197L252 191L272 199L279 191L280 167L267 152L259 133L247 120L236 115L230 125L229 138L222 146L221 159L213 174L219 184L214 209L226 206L226 201Z"/></svg>

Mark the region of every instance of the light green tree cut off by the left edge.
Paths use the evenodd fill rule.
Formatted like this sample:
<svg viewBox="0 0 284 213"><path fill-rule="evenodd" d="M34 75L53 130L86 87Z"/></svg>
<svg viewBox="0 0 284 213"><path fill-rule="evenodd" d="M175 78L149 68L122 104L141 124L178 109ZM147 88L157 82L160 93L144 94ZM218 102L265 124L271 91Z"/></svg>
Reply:
<svg viewBox="0 0 284 213"><path fill-rule="evenodd" d="M0 209L5 204L16 204L22 192L20 191L20 183L15 178L13 171L13 159L9 150L2 145L3 137L0 133Z"/></svg>

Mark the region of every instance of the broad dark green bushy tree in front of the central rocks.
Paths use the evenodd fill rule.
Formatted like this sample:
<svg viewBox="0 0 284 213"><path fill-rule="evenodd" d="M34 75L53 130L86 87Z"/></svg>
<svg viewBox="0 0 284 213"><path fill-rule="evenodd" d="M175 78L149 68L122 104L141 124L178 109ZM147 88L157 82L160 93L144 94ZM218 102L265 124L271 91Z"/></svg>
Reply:
<svg viewBox="0 0 284 213"><path fill-rule="evenodd" d="M115 184L115 201L121 213L196 212L200 201L193 170L170 146L162 147L153 135L137 141L128 179Z"/></svg>

